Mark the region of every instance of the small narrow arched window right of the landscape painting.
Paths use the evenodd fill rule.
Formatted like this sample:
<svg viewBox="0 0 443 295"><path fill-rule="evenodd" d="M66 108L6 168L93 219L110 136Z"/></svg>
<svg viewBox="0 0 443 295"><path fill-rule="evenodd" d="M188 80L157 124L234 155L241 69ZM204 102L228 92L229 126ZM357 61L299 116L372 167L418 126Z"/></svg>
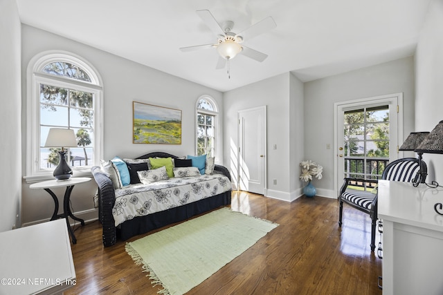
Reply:
<svg viewBox="0 0 443 295"><path fill-rule="evenodd" d="M197 155L217 156L217 135L218 135L218 109L215 100L204 95L197 99Z"/></svg>

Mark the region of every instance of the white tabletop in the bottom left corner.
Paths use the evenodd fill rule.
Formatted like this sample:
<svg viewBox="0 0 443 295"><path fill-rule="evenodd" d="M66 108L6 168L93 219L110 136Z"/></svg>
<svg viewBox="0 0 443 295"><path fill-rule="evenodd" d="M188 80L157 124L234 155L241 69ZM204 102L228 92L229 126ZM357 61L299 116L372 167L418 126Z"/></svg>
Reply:
<svg viewBox="0 0 443 295"><path fill-rule="evenodd" d="M63 220L0 233L0 294L62 294L76 284Z"/></svg>

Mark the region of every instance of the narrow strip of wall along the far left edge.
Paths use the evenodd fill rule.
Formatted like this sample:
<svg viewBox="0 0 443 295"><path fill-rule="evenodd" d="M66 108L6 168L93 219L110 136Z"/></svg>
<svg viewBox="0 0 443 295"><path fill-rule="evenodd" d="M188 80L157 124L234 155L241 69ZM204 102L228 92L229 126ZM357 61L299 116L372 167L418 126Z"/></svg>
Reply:
<svg viewBox="0 0 443 295"><path fill-rule="evenodd" d="M17 3L0 0L0 231L19 226L21 200L20 19Z"/></svg>

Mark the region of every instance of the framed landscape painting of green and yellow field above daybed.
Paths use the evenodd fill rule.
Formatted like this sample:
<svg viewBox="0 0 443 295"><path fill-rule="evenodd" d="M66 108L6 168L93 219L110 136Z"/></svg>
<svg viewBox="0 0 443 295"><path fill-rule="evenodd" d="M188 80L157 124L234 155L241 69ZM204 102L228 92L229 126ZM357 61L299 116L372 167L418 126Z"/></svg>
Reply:
<svg viewBox="0 0 443 295"><path fill-rule="evenodd" d="M174 108L133 103L134 144L181 144L181 111Z"/></svg>

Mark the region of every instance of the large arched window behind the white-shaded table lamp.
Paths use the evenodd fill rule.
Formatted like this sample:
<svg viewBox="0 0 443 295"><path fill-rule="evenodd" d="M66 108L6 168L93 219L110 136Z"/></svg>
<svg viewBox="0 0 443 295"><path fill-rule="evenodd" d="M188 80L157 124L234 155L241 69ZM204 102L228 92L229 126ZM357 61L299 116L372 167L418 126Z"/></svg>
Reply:
<svg viewBox="0 0 443 295"><path fill-rule="evenodd" d="M100 101L96 70L71 53L43 53L28 66L28 155L26 178L47 178L59 162L60 148L45 147L49 129L73 129L77 147L66 161L74 175L89 173L101 155Z"/></svg>

